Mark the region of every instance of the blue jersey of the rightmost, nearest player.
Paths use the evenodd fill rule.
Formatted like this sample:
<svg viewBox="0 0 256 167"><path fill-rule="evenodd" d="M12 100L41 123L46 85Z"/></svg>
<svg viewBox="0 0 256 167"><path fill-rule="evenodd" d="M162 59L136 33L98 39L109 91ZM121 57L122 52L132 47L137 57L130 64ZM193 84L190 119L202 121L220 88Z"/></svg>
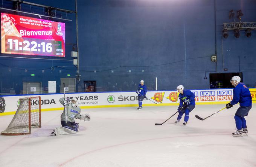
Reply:
<svg viewBox="0 0 256 167"><path fill-rule="evenodd" d="M230 101L232 105L237 104L238 102L241 107L248 107L252 105L251 92L242 82L237 84L233 89L233 100Z"/></svg>

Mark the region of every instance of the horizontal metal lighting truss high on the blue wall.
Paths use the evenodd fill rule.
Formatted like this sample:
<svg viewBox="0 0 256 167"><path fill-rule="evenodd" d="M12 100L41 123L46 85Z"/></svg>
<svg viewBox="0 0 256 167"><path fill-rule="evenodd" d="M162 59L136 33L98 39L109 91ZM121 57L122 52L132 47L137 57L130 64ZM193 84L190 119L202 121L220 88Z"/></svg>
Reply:
<svg viewBox="0 0 256 167"><path fill-rule="evenodd" d="M250 28L251 30L256 30L256 22L224 22L223 30L246 30Z"/></svg>

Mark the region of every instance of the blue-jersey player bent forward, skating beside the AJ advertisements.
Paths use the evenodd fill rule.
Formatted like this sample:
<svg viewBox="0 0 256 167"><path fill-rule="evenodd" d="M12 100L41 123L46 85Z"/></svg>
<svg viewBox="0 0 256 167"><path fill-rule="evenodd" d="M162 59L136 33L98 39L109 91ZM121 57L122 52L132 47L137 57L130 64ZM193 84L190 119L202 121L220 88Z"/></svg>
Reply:
<svg viewBox="0 0 256 167"><path fill-rule="evenodd" d="M181 117L185 113L184 117L184 123L183 126L187 124L187 121L189 120L189 112L191 112L195 108L195 95L190 90L184 90L183 85L177 86L177 91L179 94L180 99L180 105L178 107L178 118L177 121L175 121L175 125L180 122Z"/></svg>

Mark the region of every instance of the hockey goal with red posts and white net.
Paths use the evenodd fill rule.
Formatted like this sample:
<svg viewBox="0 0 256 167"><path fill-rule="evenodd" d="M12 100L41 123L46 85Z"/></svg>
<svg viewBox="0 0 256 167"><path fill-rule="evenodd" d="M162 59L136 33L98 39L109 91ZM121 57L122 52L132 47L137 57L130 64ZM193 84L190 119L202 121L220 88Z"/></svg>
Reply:
<svg viewBox="0 0 256 167"><path fill-rule="evenodd" d="M31 127L41 127L41 97L20 98L18 109L3 135L31 134Z"/></svg>

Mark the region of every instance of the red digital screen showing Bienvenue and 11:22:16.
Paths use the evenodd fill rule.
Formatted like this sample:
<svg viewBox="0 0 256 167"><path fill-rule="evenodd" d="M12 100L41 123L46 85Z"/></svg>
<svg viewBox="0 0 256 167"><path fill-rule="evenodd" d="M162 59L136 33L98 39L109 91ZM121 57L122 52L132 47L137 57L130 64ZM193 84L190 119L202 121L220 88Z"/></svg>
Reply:
<svg viewBox="0 0 256 167"><path fill-rule="evenodd" d="M2 53L65 57L65 23L1 13Z"/></svg>

